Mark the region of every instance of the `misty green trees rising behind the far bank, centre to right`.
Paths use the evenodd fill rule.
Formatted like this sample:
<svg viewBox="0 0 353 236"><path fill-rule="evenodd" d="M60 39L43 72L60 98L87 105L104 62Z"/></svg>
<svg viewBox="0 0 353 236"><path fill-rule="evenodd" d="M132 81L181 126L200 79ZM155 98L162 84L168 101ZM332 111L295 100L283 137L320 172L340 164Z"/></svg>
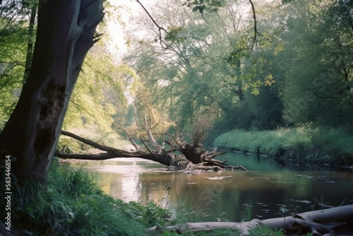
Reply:
<svg viewBox="0 0 353 236"><path fill-rule="evenodd" d="M133 19L125 61L155 107L179 127L213 113L214 134L352 126L352 1L256 1L255 38L249 1L221 3L202 14L158 5L164 38L147 17Z"/></svg>

